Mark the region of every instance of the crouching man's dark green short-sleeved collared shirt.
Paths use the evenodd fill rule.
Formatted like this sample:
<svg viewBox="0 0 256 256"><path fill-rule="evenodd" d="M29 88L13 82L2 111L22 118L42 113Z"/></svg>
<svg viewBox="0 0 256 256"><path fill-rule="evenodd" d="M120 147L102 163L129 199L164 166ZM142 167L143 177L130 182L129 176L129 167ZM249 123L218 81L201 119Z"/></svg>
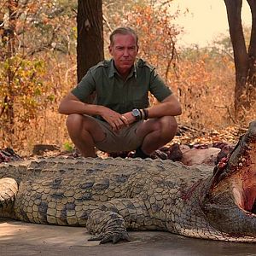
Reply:
<svg viewBox="0 0 256 256"><path fill-rule="evenodd" d="M113 60L102 61L91 67L72 90L74 96L85 102L96 91L94 104L126 113L133 108L148 107L148 91L161 102L172 94L172 90L156 73L155 68L139 59L126 80L123 80L113 65Z"/></svg>

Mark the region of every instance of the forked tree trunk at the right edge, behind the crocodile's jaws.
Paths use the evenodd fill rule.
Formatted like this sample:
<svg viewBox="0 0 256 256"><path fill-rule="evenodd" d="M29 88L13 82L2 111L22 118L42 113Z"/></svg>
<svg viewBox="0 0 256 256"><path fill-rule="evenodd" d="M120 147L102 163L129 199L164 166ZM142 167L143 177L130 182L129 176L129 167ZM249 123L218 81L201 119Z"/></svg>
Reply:
<svg viewBox="0 0 256 256"><path fill-rule="evenodd" d="M241 25L242 0L224 0L236 67L235 119L243 121L255 102L256 0L247 0L253 15L251 41L247 52Z"/></svg>

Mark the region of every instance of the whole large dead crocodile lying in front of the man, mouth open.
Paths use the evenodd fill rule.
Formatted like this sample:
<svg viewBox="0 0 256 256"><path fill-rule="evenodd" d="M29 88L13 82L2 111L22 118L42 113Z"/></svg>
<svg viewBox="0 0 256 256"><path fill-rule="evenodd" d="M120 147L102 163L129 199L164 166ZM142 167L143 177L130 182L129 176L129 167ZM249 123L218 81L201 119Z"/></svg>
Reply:
<svg viewBox="0 0 256 256"><path fill-rule="evenodd" d="M86 227L100 243L130 241L129 230L256 242L256 121L214 172L149 159L3 163L0 217Z"/></svg>

